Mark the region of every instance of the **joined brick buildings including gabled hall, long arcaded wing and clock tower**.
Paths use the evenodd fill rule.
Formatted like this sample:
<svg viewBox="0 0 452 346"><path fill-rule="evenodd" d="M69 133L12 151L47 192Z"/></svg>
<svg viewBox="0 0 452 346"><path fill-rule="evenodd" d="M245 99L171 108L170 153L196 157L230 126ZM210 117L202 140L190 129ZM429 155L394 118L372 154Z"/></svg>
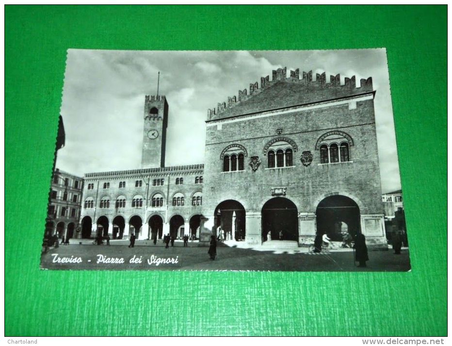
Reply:
<svg viewBox="0 0 452 346"><path fill-rule="evenodd" d="M205 163L165 167L169 103L145 96L142 167L87 173L79 237L207 242L220 226L250 245L327 233L387 246L372 79L286 68L208 110ZM263 237L263 235L265 235Z"/></svg>

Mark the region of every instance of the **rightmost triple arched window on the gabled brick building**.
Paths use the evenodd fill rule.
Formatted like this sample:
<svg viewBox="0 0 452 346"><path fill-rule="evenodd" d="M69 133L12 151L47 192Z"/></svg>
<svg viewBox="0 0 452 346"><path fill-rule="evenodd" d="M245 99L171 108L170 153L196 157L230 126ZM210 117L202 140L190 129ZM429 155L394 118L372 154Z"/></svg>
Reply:
<svg viewBox="0 0 452 346"><path fill-rule="evenodd" d="M323 134L317 141L320 150L320 163L337 163L350 161L352 138L342 131L331 131Z"/></svg>

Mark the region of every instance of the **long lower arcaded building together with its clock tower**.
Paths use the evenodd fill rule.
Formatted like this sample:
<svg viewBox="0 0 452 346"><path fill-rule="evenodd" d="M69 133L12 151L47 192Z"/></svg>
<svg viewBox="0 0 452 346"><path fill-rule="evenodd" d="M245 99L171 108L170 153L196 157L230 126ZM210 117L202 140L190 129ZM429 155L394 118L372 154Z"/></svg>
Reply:
<svg viewBox="0 0 452 346"><path fill-rule="evenodd" d="M143 118L142 168L85 174L80 237L199 237L204 165L165 167L165 96L146 96Z"/></svg>

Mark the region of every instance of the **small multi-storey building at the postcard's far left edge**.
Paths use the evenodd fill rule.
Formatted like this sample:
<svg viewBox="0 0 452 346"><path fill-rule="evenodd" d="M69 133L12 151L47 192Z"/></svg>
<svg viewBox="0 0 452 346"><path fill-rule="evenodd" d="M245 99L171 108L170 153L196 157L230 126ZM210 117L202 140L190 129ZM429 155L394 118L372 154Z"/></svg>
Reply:
<svg viewBox="0 0 452 346"><path fill-rule="evenodd" d="M58 168L53 172L46 228L59 238L73 238L81 215L83 178Z"/></svg>

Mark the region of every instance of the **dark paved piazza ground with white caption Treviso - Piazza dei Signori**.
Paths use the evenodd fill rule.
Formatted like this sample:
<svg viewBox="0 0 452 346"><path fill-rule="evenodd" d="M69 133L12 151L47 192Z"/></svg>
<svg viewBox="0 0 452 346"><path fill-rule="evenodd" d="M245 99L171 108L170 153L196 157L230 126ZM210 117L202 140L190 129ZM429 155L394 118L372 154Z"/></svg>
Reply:
<svg viewBox="0 0 452 346"><path fill-rule="evenodd" d="M118 241L119 242L119 241ZM122 241L129 244L129 241ZM113 244L113 241L112 241ZM44 269L90 270L258 270L258 271L408 271L409 251L395 255L392 250L370 251L368 267L355 267L352 249L335 249L311 253L307 248L270 250L263 246L248 248L244 242L226 242L217 247L217 257L209 259L207 247L175 242L165 249L161 241L153 245L149 240L138 240L134 248L116 245L60 245L42 255ZM52 255L53 254L53 255ZM55 262L81 261L80 263ZM139 262L141 258L141 263ZM99 261L100 259L100 261ZM130 261L135 261L130 263ZM163 262L162 262L163 261ZM113 262L113 263L112 263ZM168 262L168 263L165 263Z"/></svg>

